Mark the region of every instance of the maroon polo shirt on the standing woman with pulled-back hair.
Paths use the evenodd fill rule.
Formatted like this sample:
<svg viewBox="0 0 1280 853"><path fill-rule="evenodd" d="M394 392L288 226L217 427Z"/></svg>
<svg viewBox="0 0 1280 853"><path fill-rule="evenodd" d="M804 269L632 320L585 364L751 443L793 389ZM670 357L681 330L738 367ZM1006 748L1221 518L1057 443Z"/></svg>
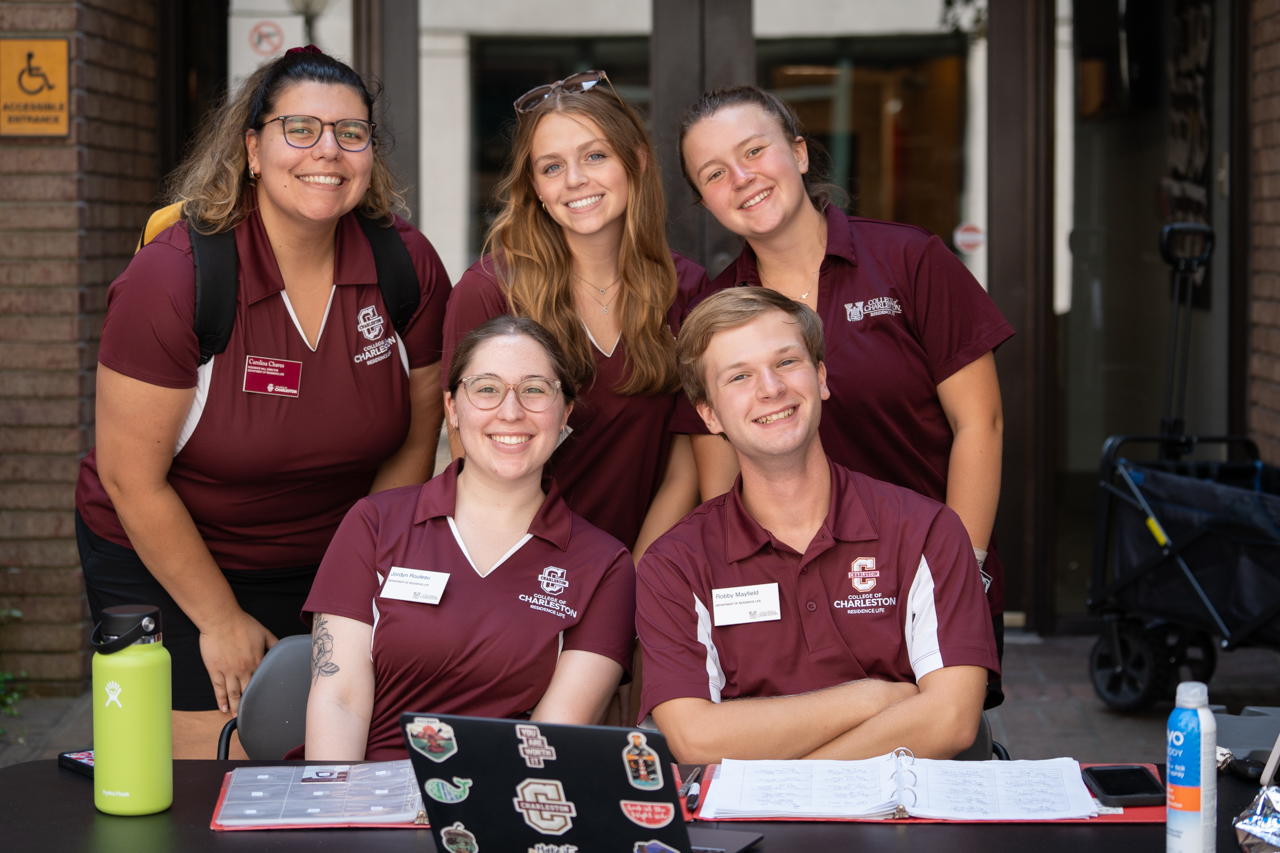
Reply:
<svg viewBox="0 0 1280 853"><path fill-rule="evenodd" d="M835 205L827 206L818 280L831 388L822 403L823 450L845 467L946 501L954 435L938 384L1012 337L1012 327L941 240ZM748 245L689 310L716 291L759 284ZM671 429L707 433L684 396ZM1005 574L995 543L988 551L987 598L991 612L1002 613Z"/></svg>

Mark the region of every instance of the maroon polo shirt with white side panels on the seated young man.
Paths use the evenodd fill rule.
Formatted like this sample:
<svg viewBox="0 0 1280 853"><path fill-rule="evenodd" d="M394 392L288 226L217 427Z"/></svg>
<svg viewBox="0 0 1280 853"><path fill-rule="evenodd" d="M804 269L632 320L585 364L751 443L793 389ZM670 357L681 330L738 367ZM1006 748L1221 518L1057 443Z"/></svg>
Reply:
<svg viewBox="0 0 1280 853"><path fill-rule="evenodd" d="M943 666L996 678L996 640L960 516L831 462L831 511L805 553L742 506L741 479L640 560L640 717L669 699L792 695ZM716 590L777 584L780 619L717 625Z"/></svg>

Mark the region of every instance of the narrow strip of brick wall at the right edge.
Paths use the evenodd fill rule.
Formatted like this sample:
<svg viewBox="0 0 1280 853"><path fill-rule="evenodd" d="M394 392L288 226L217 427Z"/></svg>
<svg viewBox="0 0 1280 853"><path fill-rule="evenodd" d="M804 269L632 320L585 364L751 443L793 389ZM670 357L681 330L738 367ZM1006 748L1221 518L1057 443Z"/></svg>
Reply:
<svg viewBox="0 0 1280 853"><path fill-rule="evenodd" d="M1249 433L1280 465L1280 0L1254 0Z"/></svg>

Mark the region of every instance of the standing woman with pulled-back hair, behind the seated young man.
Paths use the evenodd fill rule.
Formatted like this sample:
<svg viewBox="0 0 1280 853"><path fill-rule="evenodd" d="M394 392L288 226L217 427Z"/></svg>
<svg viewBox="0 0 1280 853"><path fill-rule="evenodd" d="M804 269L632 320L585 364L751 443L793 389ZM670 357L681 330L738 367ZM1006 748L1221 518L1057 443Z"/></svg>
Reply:
<svg viewBox="0 0 1280 853"><path fill-rule="evenodd" d="M991 543L1002 444L993 350L1014 329L936 236L832 204L836 188L774 95L755 86L703 95L681 118L680 150L694 199L746 241L699 301L760 286L818 313L831 389L823 447L845 467L956 511L1002 648L1004 573ZM733 450L708 435L687 403L672 429L694 434L703 498L727 492ZM1001 699L996 689L988 702Z"/></svg>

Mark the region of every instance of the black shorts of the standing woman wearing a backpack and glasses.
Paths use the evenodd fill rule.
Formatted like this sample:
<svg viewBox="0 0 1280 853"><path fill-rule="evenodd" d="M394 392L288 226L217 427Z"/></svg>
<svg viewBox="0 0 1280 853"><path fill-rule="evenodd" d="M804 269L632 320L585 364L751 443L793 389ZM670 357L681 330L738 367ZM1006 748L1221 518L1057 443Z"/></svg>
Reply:
<svg viewBox="0 0 1280 853"><path fill-rule="evenodd" d="M177 602L165 592L132 548L109 542L88 529L76 512L76 544L84 570L84 592L93 613L101 621L102 608L114 605L155 605L160 608L164 647L173 658L173 710L216 711L218 699L209 670L200 656L200 631ZM278 639L306 634L302 605L311 592L319 566L297 569L223 569L236 601L246 613L262 624Z"/></svg>

